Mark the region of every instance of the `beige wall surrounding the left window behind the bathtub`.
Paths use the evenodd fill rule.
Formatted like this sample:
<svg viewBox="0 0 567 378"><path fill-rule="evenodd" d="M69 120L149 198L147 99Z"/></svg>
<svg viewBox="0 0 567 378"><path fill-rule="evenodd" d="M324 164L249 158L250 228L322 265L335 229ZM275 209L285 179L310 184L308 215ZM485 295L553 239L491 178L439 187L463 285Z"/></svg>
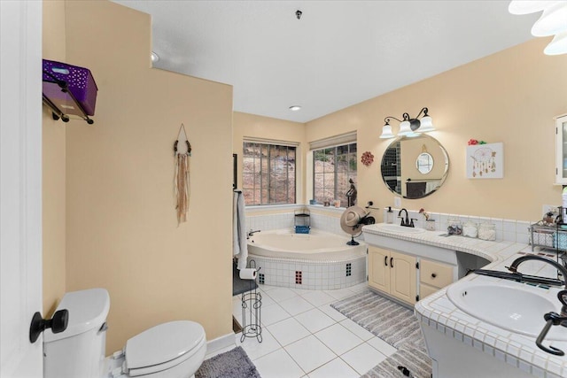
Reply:
<svg viewBox="0 0 567 378"><path fill-rule="evenodd" d="M258 138L280 142L299 143L297 150L297 192L298 204L306 202L305 197L305 166L308 150L305 143L306 127L304 123L291 122L289 120L276 120L274 118L262 117L242 112L234 112L233 116L232 149L237 157L237 186L242 185L242 143L246 138Z"/></svg>

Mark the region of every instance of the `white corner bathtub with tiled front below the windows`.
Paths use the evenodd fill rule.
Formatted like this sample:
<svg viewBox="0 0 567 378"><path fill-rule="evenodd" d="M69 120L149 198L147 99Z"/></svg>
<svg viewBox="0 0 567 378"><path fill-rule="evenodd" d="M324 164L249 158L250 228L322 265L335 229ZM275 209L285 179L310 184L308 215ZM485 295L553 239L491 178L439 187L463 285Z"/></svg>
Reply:
<svg viewBox="0 0 567 378"><path fill-rule="evenodd" d="M347 245L350 238L316 229L260 231L248 240L258 282L297 289L344 289L366 282L367 245Z"/></svg>

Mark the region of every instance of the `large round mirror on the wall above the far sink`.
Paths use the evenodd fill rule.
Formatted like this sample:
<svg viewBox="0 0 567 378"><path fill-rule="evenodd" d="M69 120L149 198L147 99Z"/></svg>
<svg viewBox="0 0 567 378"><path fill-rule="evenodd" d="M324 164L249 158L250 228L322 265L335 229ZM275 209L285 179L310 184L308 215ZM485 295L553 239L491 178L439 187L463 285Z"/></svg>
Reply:
<svg viewBox="0 0 567 378"><path fill-rule="evenodd" d="M449 156L430 135L400 136L384 151L380 171L392 193L423 198L443 185L449 172Z"/></svg>

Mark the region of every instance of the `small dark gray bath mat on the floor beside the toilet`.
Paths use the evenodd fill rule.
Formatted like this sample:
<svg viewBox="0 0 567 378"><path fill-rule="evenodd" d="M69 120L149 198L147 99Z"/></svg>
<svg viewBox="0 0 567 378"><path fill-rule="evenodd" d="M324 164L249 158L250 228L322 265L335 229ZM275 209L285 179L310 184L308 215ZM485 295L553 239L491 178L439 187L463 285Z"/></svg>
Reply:
<svg viewBox="0 0 567 378"><path fill-rule="evenodd" d="M235 349L206 359L198 368L195 378L261 378L256 366L248 358L245 350Z"/></svg>

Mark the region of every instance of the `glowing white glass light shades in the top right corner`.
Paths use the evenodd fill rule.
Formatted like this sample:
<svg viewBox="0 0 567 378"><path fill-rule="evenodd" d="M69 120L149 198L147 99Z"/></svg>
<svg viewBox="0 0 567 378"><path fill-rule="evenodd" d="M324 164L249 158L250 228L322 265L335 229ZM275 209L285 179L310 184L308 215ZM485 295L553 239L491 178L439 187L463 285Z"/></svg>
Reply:
<svg viewBox="0 0 567 378"><path fill-rule="evenodd" d="M532 27L532 35L543 37L555 35L543 50L546 55L567 54L567 2L565 1L518 1L508 6L512 14L541 12L541 17Z"/></svg>

